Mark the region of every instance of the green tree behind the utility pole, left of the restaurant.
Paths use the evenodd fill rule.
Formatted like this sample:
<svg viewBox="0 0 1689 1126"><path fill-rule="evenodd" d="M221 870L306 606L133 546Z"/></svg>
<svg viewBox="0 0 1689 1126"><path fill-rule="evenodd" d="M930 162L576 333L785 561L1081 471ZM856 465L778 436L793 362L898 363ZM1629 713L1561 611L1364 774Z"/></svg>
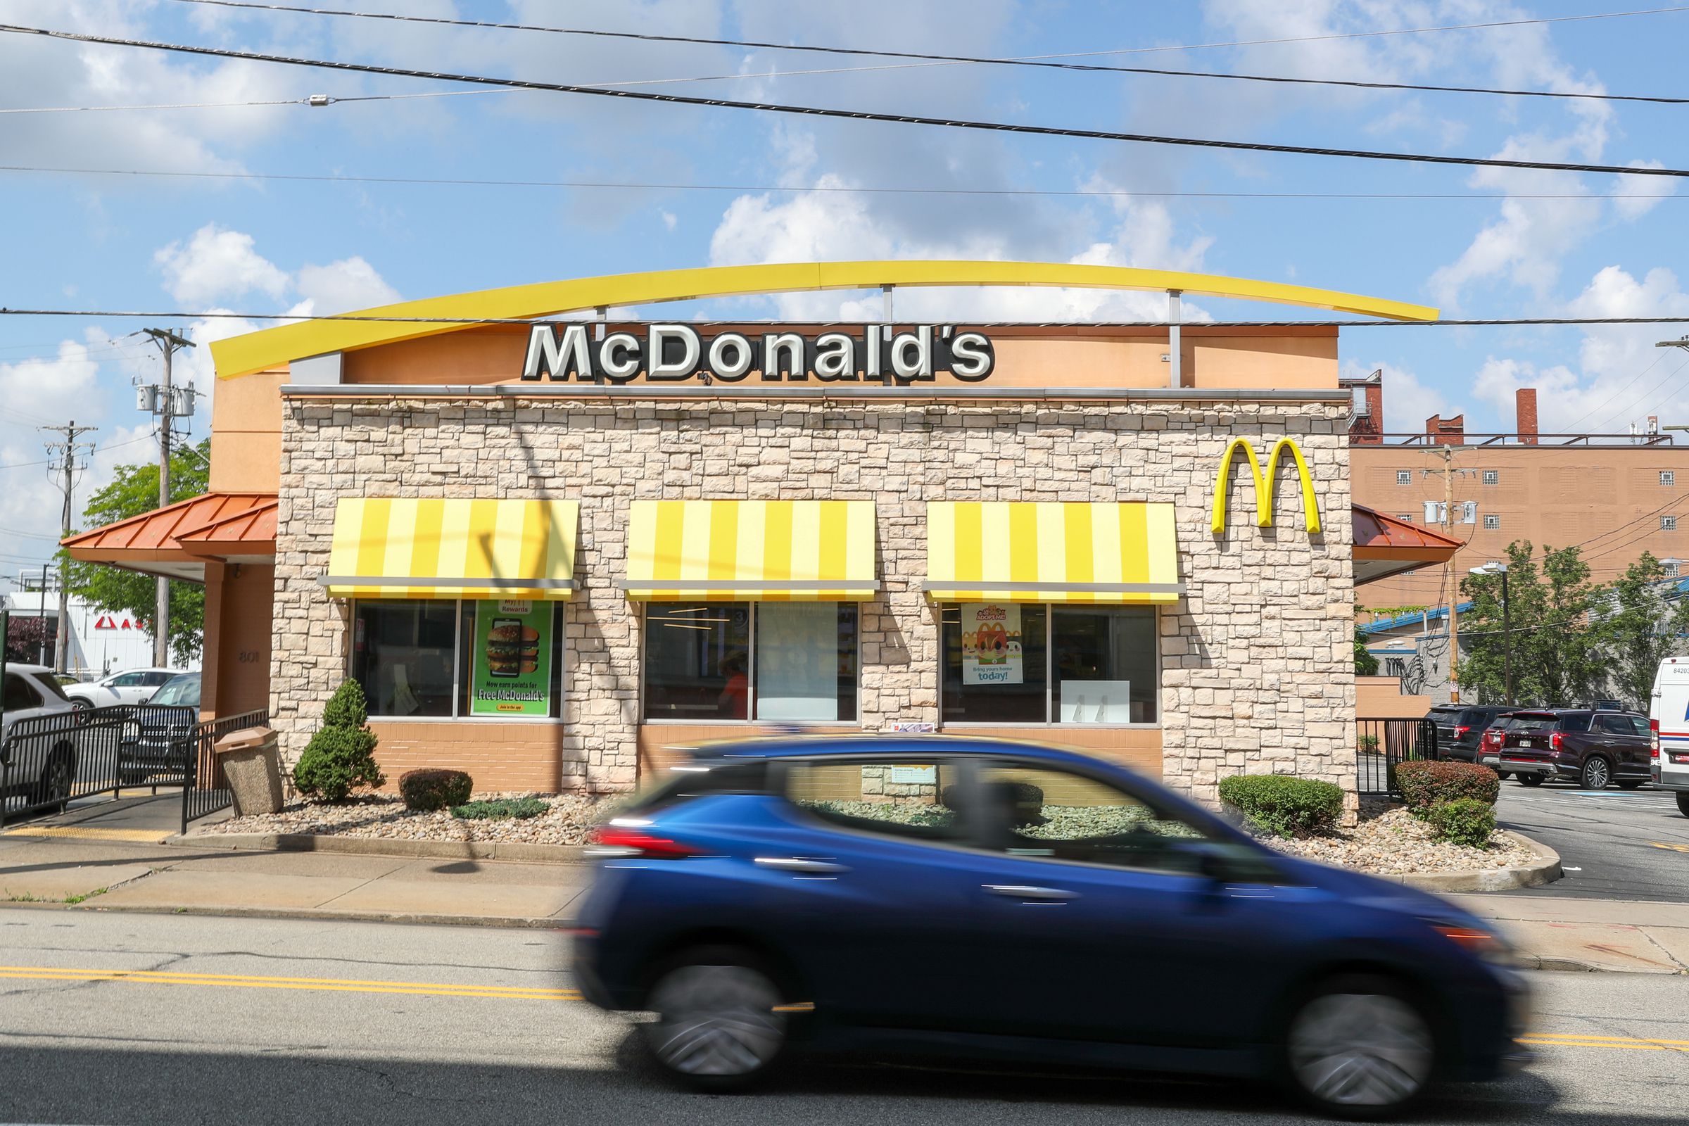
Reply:
<svg viewBox="0 0 1689 1126"><path fill-rule="evenodd" d="M211 439L171 454L171 501L206 491ZM98 528L128 520L159 506L159 466L118 466L111 483L88 498L83 527ZM71 594L84 598L105 613L122 613L152 630L157 611L157 586L150 574L123 571L106 564L71 559L66 571ZM199 582L171 582L171 653L189 662L204 645L206 589Z"/></svg>

